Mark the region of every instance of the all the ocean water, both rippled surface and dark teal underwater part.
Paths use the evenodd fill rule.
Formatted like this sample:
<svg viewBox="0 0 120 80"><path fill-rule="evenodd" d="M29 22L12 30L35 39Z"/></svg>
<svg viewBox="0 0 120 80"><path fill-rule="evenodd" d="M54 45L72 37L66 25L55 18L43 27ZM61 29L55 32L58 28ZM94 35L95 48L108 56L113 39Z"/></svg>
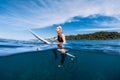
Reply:
<svg viewBox="0 0 120 80"><path fill-rule="evenodd" d="M66 56L55 44L0 39L0 80L120 80L120 40L69 40Z"/></svg>

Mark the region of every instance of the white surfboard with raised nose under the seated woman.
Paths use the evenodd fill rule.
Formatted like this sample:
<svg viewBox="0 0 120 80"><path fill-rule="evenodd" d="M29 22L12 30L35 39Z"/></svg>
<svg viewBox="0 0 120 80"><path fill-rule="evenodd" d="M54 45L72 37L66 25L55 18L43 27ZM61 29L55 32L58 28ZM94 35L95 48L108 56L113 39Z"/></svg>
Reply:
<svg viewBox="0 0 120 80"><path fill-rule="evenodd" d="M43 39L42 37L40 37L39 35L37 35L36 33L34 33L34 32L33 32L32 30L30 30L30 29L29 29L29 32L32 33L32 35L33 35L34 37L36 37L38 40L44 42L45 44L52 44L51 42ZM53 44L55 44L55 43L53 43ZM72 55L72 54L70 54L70 53L68 53L68 52L66 53L66 55L68 55L68 56L70 56L70 57L72 57L72 58L75 58L74 55Z"/></svg>

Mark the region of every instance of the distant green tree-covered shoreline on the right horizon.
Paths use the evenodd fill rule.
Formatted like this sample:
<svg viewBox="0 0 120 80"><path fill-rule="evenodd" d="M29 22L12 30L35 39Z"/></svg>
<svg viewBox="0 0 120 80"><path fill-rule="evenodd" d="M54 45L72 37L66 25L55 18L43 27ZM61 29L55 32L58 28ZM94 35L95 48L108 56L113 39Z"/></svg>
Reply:
<svg viewBox="0 0 120 80"><path fill-rule="evenodd" d="M108 40L108 39L120 39L119 32L95 32L91 34L78 34L78 35L67 35L67 40Z"/></svg>

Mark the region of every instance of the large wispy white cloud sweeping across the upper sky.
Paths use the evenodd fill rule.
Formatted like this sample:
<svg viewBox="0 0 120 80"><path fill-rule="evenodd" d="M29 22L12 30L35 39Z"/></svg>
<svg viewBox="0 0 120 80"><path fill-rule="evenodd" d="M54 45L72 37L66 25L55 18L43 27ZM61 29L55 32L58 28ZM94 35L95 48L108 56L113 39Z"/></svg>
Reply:
<svg viewBox="0 0 120 80"><path fill-rule="evenodd" d="M13 2L14 3L14 2ZM120 16L119 0L63 0L55 1L39 0L38 5L34 1L26 3L15 2L14 7L5 7L9 14L0 16L0 23L13 26L31 28L42 28L53 24L61 24L74 16L89 16L103 14L109 16ZM19 9L19 10L17 10Z"/></svg>

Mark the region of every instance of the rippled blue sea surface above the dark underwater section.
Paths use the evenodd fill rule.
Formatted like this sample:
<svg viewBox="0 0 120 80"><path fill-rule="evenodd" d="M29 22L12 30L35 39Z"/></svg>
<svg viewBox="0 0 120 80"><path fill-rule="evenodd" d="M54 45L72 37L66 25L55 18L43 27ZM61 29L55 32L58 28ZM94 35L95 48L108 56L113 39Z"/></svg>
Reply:
<svg viewBox="0 0 120 80"><path fill-rule="evenodd" d="M68 40L66 48L80 51L101 51L120 55L120 39L117 40ZM55 44L48 45L40 41L18 41L0 39L0 56L17 54L27 51L47 50L57 48Z"/></svg>

